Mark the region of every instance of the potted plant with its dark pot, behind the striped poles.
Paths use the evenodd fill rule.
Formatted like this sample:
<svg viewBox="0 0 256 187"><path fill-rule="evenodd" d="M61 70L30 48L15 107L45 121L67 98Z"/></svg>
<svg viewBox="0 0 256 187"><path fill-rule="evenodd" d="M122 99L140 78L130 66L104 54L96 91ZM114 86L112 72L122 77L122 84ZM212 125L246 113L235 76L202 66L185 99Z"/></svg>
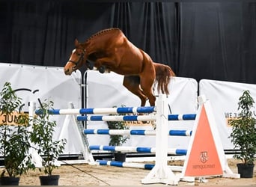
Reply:
<svg viewBox="0 0 256 187"><path fill-rule="evenodd" d="M116 107L116 106L114 106ZM124 107L124 105L121 105ZM112 114L110 114L112 115ZM121 114L118 114L121 115ZM109 129L129 129L125 121L107 121ZM110 146L121 146L129 139L129 135L110 135L109 145ZM120 151L114 153L115 161L125 162L126 153Z"/></svg>

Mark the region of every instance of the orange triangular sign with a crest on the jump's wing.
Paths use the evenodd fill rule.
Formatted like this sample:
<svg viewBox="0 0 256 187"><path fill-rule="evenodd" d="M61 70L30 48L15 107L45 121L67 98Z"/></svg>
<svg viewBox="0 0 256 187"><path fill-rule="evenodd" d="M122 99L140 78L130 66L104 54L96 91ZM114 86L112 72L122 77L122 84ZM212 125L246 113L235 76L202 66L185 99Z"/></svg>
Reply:
<svg viewBox="0 0 256 187"><path fill-rule="evenodd" d="M222 175L222 165L204 105L202 105L198 125L193 133L195 135L192 146L189 147L189 158L186 160L184 176Z"/></svg>

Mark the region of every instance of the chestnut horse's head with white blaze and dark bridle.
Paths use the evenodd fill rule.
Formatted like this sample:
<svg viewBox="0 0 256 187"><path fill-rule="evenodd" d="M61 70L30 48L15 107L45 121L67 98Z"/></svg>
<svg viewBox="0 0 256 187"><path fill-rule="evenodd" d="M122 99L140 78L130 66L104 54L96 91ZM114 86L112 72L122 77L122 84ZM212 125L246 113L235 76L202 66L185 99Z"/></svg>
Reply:
<svg viewBox="0 0 256 187"><path fill-rule="evenodd" d="M82 67L82 64L85 63L85 46L82 43L79 43L78 40L75 40L75 49L73 49L70 59L67 61L67 64L64 67L64 73L66 75L71 75L73 71Z"/></svg>

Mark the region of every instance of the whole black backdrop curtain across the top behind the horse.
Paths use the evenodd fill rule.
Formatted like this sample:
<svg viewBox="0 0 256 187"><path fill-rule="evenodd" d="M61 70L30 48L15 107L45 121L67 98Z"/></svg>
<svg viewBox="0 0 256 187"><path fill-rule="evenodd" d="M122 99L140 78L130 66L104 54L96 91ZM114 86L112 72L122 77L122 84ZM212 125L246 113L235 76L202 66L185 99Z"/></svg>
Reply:
<svg viewBox="0 0 256 187"><path fill-rule="evenodd" d="M0 0L0 61L63 67L112 27L177 76L256 84L255 2Z"/></svg>

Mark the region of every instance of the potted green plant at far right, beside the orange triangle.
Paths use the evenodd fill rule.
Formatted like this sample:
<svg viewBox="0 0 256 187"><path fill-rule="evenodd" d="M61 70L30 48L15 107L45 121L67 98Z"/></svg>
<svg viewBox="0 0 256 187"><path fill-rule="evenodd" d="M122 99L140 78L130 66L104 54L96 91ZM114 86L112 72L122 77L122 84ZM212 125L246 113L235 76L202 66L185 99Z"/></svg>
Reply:
<svg viewBox="0 0 256 187"><path fill-rule="evenodd" d="M234 158L242 161L242 163L237 164L238 173L242 178L252 178L255 167L256 120L252 113L254 103L250 91L243 91L238 102L239 117L229 120L232 127L229 138L234 144L234 149L240 150L234 155Z"/></svg>

